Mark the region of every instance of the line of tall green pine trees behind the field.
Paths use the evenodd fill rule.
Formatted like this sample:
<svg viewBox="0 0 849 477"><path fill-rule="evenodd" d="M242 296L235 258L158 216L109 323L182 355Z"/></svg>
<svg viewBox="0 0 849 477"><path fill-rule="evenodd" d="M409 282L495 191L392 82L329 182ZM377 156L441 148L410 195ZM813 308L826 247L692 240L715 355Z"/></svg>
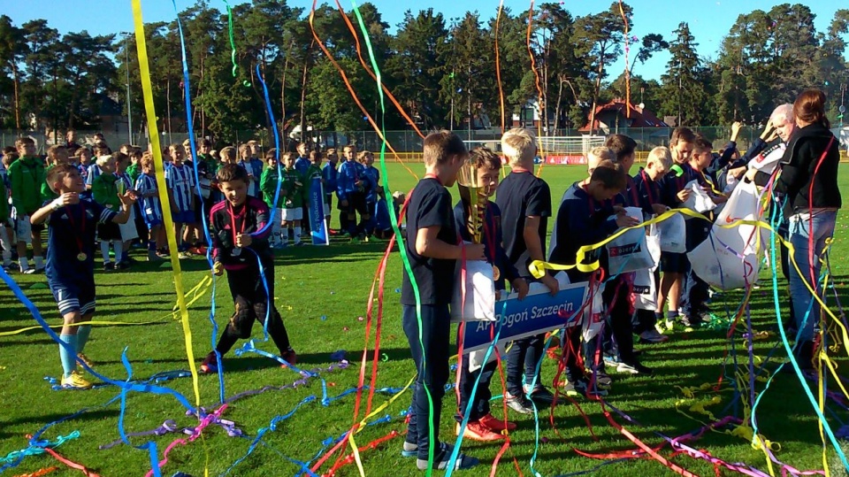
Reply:
<svg viewBox="0 0 849 477"><path fill-rule="evenodd" d="M501 101L508 127L529 101L546 110L547 130L583 127L594 105L626 95L626 82L633 104L642 102L658 117L673 116L685 125L756 123L810 87L826 91L830 116L838 116L849 83L843 39L849 10L838 10L823 32L803 4L739 15L715 58L704 55L686 22L673 32L636 37L632 16L631 6L618 2L586 16L556 2L539 4L530 14L505 8L457 19L426 9L406 12L390 34L374 4L361 5L356 15L338 4L310 11L285 0L253 0L228 13L198 1L179 14L189 91L177 21L146 24L144 33L160 128L185 130L179 118L185 118L188 93L195 129L222 141L270 126L257 72L281 125L369 129L337 69L375 116L379 92L369 47L386 90L422 130L464 128L481 112L500 126ZM613 71L626 42L628 71ZM662 50L671 55L666 73L660 81L644 80L640 68ZM97 127L104 97L117 99L126 114L127 77L138 130L145 121L133 35L60 34L44 19L16 26L0 16L0 128ZM386 104L386 129L409 129L388 98Z"/></svg>

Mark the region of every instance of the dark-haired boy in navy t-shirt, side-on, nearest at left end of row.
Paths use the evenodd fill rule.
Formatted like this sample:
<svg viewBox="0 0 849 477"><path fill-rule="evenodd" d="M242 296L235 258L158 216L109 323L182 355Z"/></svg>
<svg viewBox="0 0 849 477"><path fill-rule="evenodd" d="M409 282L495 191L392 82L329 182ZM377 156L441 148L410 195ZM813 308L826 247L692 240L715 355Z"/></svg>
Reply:
<svg viewBox="0 0 849 477"><path fill-rule="evenodd" d="M416 285L406 271L403 273L401 304L404 334L416 363L417 378L412 391L412 412L409 414L407 437L402 455L417 456L416 465L427 469L429 446L433 446L432 467L445 469L453 447L439 440L440 413L445 384L448 381L450 355L451 303L455 289L457 260L483 260L482 244L457 245L457 230L451 207L451 193L457 172L468 158L463 141L448 131L424 138L424 179L418 182L410 196L407 210L407 254ZM418 288L418 297L415 289ZM417 314L417 302L421 314ZM426 364L426 365L425 365ZM432 399L433 414L428 401ZM432 420L431 420L432 419ZM432 430L431 430L432 423ZM434 435L431 442L431 433ZM478 459L459 454L458 469L478 464Z"/></svg>

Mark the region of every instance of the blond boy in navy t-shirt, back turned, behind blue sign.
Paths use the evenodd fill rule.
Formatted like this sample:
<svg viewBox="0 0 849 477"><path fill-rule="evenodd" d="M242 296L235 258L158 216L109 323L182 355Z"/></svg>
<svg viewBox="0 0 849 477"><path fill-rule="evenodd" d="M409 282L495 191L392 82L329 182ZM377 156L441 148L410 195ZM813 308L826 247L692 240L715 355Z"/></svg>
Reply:
<svg viewBox="0 0 849 477"><path fill-rule="evenodd" d="M533 175L533 158L537 155L537 140L532 131L521 127L510 129L501 136L501 150L512 172L501 181L495 204L501 209L504 227L504 250L516 266L519 275L530 279L528 265L533 260L545 260L548 218L551 217L551 190L546 181ZM555 277L546 274L542 283L555 295L560 285ZM545 333L513 342L507 354L507 394L510 409L521 414L533 412L525 396L525 381L533 383L530 396L541 403L554 400L551 391L539 382L539 362ZM524 380L523 380L524 373Z"/></svg>

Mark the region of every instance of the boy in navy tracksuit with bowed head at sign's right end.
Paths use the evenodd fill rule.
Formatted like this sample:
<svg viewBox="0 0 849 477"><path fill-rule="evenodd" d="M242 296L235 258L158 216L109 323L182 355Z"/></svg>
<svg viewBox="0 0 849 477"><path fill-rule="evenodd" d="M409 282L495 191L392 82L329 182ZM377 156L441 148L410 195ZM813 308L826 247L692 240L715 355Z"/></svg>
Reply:
<svg viewBox="0 0 849 477"><path fill-rule="evenodd" d="M592 153L596 157L612 155L608 148L595 148ZM560 208L557 210L555 228L551 235L551 244L548 249L549 261L555 264L575 265L577 250L581 247L601 242L608 235L616 232L619 227L630 227L636 223L633 218L614 209L613 199L625 188L625 183L622 167L613 161L602 160L593 168L592 175L588 179L575 182L566 190ZM603 248L587 253L581 263L586 265L599 260L601 250ZM594 273L582 272L577 268L571 268L567 274L572 283L594 279ZM578 364L577 352L581 339L581 327L567 328L565 338L566 394L568 396L581 396L587 392L606 394L606 391L593 389L591 381L585 376L584 369ZM606 384L609 385L609 382Z"/></svg>

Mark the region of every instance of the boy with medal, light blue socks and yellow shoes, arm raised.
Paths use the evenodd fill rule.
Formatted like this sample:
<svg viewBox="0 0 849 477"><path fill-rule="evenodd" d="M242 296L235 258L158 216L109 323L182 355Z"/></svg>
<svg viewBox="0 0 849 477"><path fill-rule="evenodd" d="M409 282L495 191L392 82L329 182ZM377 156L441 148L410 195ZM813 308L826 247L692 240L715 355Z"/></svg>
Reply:
<svg viewBox="0 0 849 477"><path fill-rule="evenodd" d="M78 324L91 321L95 312L95 230L99 224L125 223L135 195L132 191L119 195L120 212L80 200L86 183L80 171L70 164L50 169L47 181L58 197L35 211L30 220L33 225L48 225L47 283L65 325L59 335L66 343L59 345L62 386L88 389L91 383L77 373L75 359L91 366L82 354L91 326Z"/></svg>

